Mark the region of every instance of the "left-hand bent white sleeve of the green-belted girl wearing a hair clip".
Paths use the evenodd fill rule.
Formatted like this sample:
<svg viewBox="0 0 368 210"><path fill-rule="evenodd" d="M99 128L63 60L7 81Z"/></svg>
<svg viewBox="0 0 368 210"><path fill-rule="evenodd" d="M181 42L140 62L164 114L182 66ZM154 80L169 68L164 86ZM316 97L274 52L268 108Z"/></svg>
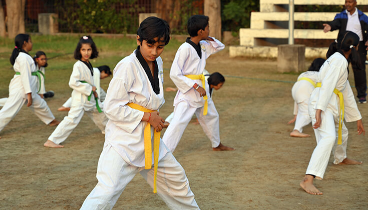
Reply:
<svg viewBox="0 0 368 210"><path fill-rule="evenodd" d="M85 95L90 95L92 92L92 85L89 83L81 82L82 79L82 66L77 63L73 65L72 75L70 75L69 86L78 92L81 92Z"/></svg>

